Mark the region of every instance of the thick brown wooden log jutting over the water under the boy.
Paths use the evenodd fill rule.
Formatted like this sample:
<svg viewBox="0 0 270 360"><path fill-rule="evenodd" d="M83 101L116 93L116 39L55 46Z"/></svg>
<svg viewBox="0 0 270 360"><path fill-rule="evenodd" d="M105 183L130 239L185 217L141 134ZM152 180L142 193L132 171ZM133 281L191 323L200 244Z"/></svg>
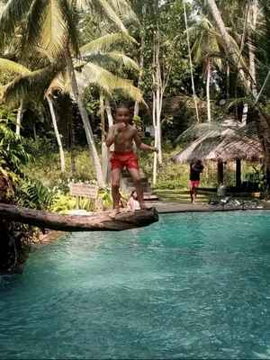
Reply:
<svg viewBox="0 0 270 360"><path fill-rule="evenodd" d="M158 221L158 213L155 208L135 212L123 211L112 219L109 211L89 216L59 215L0 203L0 218L61 231L121 231L148 226Z"/></svg>

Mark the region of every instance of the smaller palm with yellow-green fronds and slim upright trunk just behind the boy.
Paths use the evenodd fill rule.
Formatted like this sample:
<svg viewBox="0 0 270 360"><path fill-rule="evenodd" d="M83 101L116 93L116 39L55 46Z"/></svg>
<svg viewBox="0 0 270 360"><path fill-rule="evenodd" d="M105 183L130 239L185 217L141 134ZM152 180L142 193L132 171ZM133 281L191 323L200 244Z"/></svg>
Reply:
<svg viewBox="0 0 270 360"><path fill-rule="evenodd" d="M112 113L109 100L117 90L135 101L143 103L142 94L139 89L124 78L121 78L122 70L135 70L139 72L138 64L125 54L113 50L119 41L134 42L131 37L121 33L104 34L98 39L92 40L83 46L81 50L82 59L85 61L84 67L76 73L78 85L83 90L88 85L97 85L100 88L100 116L102 130L102 168L105 183L109 179L108 149L105 145L105 109L109 126L112 126ZM109 73L108 70L112 70ZM97 81L96 81L96 80ZM105 106L106 103L106 106Z"/></svg>

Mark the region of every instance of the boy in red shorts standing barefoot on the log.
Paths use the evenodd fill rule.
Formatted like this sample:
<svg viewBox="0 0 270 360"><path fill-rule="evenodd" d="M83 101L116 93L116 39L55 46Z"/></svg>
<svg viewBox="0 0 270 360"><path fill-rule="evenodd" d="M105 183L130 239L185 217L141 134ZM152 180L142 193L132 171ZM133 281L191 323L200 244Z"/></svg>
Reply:
<svg viewBox="0 0 270 360"><path fill-rule="evenodd" d="M124 167L128 168L134 182L140 209L146 209L143 200L143 188L140 184L139 161L132 150L133 141L137 148L140 148L141 150L158 151L157 148L153 148L141 142L138 130L133 125L130 125L130 108L128 105L121 103L117 106L114 120L115 124L109 129L106 139L108 148L114 144L114 151L112 152L110 160L112 168L113 217L120 211L119 187L121 170Z"/></svg>

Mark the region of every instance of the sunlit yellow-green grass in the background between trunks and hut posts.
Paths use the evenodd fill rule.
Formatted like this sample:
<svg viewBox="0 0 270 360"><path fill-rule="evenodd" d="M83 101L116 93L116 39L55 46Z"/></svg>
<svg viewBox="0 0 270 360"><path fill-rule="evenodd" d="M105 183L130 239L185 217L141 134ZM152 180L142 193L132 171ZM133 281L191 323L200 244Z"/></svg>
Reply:
<svg viewBox="0 0 270 360"><path fill-rule="evenodd" d="M187 164L174 164L171 158L175 155L180 148L166 147L163 154L163 164L158 167L157 175L157 186L154 189L155 192L164 199L187 200L189 194L186 193L188 190L189 182L189 166ZM40 152L39 152L40 153ZM58 153L52 153L46 151L44 148L42 155L35 158L35 161L28 166L23 167L23 172L30 178L38 179L42 184L53 187L58 184L59 181L67 183L69 179L75 181L94 181L94 166L92 159L89 155L87 148L76 148L74 152L76 172L71 170L71 156L67 151L65 152L66 157L66 173L61 174L60 162ZM139 152L140 165L148 177L151 183L152 179L152 162L153 154L149 152ZM258 166L257 166L258 167ZM253 165L243 164L243 178L247 174L254 173L255 169ZM202 187L216 187L217 181L217 166L216 163L210 161L205 164L204 171L202 173ZM224 169L225 184L234 184L235 177L235 164L234 162L228 163ZM184 193L185 192L185 193ZM207 198L205 196L198 195L198 200L203 201Z"/></svg>

